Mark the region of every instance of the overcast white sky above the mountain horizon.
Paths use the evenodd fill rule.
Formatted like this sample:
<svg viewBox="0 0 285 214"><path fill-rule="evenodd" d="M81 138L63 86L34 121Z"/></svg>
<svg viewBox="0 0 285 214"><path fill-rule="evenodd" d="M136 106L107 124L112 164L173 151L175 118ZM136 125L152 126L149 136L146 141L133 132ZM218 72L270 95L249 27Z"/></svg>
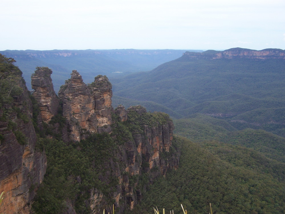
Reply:
<svg viewBox="0 0 285 214"><path fill-rule="evenodd" d="M285 49L284 0L5 0L0 50Z"/></svg>

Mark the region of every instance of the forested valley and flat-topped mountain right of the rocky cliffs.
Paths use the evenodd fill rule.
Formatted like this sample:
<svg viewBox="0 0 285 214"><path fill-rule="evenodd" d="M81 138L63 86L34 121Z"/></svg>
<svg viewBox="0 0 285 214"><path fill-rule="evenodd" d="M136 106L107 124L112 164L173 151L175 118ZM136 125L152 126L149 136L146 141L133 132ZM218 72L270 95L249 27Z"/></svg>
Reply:
<svg viewBox="0 0 285 214"><path fill-rule="evenodd" d="M239 53L216 57L227 51ZM190 213L209 213L209 203L216 213L284 212L284 51L262 53L281 58L227 51L185 53L113 80L113 102L167 112L175 134L187 138L179 168L147 188L139 213L155 206L180 213L180 203Z"/></svg>

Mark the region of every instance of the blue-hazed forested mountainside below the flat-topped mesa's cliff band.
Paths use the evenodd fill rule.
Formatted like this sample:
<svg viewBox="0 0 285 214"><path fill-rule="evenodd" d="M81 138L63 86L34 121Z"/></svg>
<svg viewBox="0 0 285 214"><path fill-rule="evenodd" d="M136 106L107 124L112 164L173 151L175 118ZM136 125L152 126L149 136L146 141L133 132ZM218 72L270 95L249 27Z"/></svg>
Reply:
<svg viewBox="0 0 285 214"><path fill-rule="evenodd" d="M112 80L113 102L139 102L173 118L200 113L222 118L237 129L260 128L284 136L285 60L215 59L216 51L203 53L184 54L150 72Z"/></svg>

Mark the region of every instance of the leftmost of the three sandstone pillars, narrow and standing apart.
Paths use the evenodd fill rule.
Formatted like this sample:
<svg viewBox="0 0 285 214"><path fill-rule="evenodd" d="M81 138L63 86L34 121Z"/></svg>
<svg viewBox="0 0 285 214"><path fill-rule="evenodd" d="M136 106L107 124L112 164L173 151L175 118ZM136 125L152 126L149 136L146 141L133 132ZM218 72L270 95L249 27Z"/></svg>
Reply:
<svg viewBox="0 0 285 214"><path fill-rule="evenodd" d="M38 101L41 117L44 122L49 122L58 113L59 99L54 92L50 75L52 70L47 67L37 67L32 74L32 89Z"/></svg>

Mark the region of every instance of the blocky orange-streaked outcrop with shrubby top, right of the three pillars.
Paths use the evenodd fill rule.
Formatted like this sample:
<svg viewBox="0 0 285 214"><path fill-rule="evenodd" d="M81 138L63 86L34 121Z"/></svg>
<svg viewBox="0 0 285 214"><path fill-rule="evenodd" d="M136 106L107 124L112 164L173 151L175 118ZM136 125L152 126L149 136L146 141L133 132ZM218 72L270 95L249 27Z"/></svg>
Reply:
<svg viewBox="0 0 285 214"><path fill-rule="evenodd" d="M121 121L120 115L124 109L123 106L119 106L115 111ZM125 197L124 201L128 207L133 209L142 197L142 190L137 187L139 176L147 173L151 183L152 179L157 176L165 175L168 169L177 169L180 150L169 151L173 140L174 125L167 114L160 113L158 117L163 120L159 122L142 106L130 107L127 113L128 120L125 122L141 126L142 132L133 130L133 140L125 141L121 148L123 155L118 158L120 163L125 163L124 172L126 173L119 177L123 194L119 192L121 195L118 194L114 198ZM150 120L154 122L150 123ZM147 124L144 124L145 122Z"/></svg>

